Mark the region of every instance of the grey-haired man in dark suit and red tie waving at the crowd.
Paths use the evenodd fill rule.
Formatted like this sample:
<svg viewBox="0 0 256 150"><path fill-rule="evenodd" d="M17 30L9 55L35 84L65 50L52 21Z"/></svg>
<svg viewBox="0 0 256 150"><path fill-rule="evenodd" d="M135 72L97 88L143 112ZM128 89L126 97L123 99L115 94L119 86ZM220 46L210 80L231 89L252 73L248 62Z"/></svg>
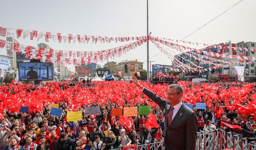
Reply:
<svg viewBox="0 0 256 150"><path fill-rule="evenodd" d="M182 101L183 89L178 84L168 87L165 100L140 85L135 76L132 81L146 96L165 109L164 146L166 150L195 150L198 120L196 113Z"/></svg>

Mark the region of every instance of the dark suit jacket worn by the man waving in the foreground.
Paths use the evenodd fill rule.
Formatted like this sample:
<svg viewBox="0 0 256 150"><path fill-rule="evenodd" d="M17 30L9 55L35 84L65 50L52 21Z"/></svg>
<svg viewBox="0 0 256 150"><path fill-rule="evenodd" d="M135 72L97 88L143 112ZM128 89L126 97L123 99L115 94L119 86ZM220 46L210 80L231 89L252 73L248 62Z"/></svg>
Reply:
<svg viewBox="0 0 256 150"><path fill-rule="evenodd" d="M164 143L166 150L195 150L196 131L198 120L196 113L182 103L182 106L174 116L170 126L168 126L167 114L171 108L168 100L157 96L154 92L144 88L142 91L156 104L165 109Z"/></svg>

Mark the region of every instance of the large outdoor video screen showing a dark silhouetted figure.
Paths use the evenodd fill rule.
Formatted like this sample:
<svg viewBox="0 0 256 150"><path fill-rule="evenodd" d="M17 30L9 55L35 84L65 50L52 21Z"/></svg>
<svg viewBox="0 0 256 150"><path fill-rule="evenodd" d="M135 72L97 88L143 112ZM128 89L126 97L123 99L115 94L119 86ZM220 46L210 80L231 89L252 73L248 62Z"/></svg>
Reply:
<svg viewBox="0 0 256 150"><path fill-rule="evenodd" d="M19 80L53 80L51 62L18 62Z"/></svg>

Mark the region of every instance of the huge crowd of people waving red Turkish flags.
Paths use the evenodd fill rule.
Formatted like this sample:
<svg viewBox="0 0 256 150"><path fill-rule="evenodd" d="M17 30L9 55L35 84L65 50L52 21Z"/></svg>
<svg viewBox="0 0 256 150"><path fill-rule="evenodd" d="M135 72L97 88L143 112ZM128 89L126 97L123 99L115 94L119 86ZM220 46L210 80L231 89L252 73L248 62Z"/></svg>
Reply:
<svg viewBox="0 0 256 150"><path fill-rule="evenodd" d="M168 85L141 84L166 98ZM184 103L206 103L205 110L193 108L198 118L198 132L209 128L232 130L222 123L225 122L241 126L232 130L234 135L254 138L255 83L180 81L178 84L184 89ZM97 82L92 90L75 82L45 82L40 87L11 83L1 86L0 90L0 150L69 150L70 147L73 150L110 150L163 139L165 109L130 82ZM49 104L53 103L58 103L62 109L61 117L50 114ZM68 122L67 112L73 111L77 104L80 106L74 111L83 112L82 120ZM132 117L131 128L118 123L119 117L112 115L114 108L143 105L151 106L158 127L146 128L147 115ZM29 106L29 110L19 111L22 106ZM100 114L86 115L85 108L91 106L100 106Z"/></svg>

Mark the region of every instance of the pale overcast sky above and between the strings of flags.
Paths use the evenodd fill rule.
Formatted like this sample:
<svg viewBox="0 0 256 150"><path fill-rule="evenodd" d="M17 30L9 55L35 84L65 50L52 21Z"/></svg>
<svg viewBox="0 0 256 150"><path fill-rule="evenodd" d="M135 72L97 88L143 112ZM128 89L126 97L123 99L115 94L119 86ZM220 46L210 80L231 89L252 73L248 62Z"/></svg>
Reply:
<svg viewBox="0 0 256 150"><path fill-rule="evenodd" d="M188 36L240 0L149 0L149 32L151 36L177 39ZM0 26L94 36L146 36L146 0L4 0L0 4ZM185 41L218 44L231 41L256 42L256 0L243 0L214 21L210 22ZM0 37L6 40L5 37ZM130 42L80 44L45 42L44 38L16 39L20 44L37 46L46 43L56 50L94 51L107 50ZM184 44L180 42L178 44ZM204 46L188 45L192 48ZM135 60L144 62L146 69L147 46L143 44L115 61ZM149 42L152 64L171 65L165 54ZM6 54L0 49L0 54ZM157 55L158 54L158 55ZM171 54L178 54L172 50ZM101 66L106 62L99 63Z"/></svg>

